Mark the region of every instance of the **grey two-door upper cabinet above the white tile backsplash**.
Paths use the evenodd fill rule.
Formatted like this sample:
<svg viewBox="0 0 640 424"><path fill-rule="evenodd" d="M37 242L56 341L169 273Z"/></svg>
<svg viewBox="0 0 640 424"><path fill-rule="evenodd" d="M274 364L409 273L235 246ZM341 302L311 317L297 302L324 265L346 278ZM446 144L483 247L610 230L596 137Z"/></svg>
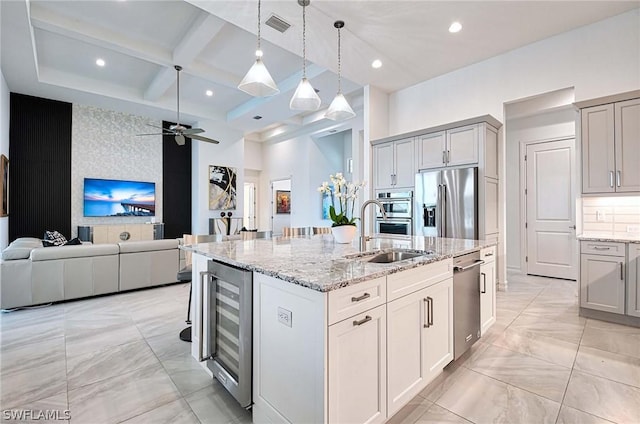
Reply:
<svg viewBox="0 0 640 424"><path fill-rule="evenodd" d="M582 192L640 192L640 98L580 112Z"/></svg>

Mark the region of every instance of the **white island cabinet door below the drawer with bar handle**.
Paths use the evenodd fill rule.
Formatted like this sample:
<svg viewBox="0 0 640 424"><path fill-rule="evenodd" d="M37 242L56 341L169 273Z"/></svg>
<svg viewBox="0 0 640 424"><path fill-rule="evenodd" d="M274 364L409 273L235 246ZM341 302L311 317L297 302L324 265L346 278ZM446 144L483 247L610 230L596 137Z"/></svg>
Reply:
<svg viewBox="0 0 640 424"><path fill-rule="evenodd" d="M330 423L387 419L386 306L329 327Z"/></svg>

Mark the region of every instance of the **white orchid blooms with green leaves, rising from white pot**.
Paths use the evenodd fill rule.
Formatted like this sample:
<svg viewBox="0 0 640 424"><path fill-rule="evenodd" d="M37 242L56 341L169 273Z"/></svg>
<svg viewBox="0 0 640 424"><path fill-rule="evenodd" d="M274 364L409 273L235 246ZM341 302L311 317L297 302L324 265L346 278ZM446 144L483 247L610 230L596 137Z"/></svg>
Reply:
<svg viewBox="0 0 640 424"><path fill-rule="evenodd" d="M356 199L358 198L358 191L364 187L365 182L356 183L348 182L341 172L336 175L329 175L331 184L325 181L318 191L329 195L331 198L331 206L329 206L329 217L333 221L333 227L339 227L341 225L356 225L358 218L353 216L353 212L356 206ZM336 200L338 202L340 211L336 209Z"/></svg>

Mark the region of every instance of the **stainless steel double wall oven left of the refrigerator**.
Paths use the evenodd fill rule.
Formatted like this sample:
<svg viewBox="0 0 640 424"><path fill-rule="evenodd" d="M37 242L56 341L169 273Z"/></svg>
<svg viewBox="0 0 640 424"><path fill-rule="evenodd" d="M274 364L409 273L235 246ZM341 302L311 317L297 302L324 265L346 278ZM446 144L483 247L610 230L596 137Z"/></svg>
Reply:
<svg viewBox="0 0 640 424"><path fill-rule="evenodd" d="M382 203L387 214L385 219L380 211L376 215L376 233L413 234L413 191L377 192L376 199Z"/></svg>

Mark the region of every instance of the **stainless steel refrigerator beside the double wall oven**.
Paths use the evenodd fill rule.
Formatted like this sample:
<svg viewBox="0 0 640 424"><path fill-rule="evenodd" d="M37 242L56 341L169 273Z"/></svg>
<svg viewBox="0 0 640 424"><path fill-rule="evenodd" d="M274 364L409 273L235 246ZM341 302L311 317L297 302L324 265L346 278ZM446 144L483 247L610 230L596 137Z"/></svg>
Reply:
<svg viewBox="0 0 640 424"><path fill-rule="evenodd" d="M478 168L420 172L415 187L415 235L478 238Z"/></svg>

